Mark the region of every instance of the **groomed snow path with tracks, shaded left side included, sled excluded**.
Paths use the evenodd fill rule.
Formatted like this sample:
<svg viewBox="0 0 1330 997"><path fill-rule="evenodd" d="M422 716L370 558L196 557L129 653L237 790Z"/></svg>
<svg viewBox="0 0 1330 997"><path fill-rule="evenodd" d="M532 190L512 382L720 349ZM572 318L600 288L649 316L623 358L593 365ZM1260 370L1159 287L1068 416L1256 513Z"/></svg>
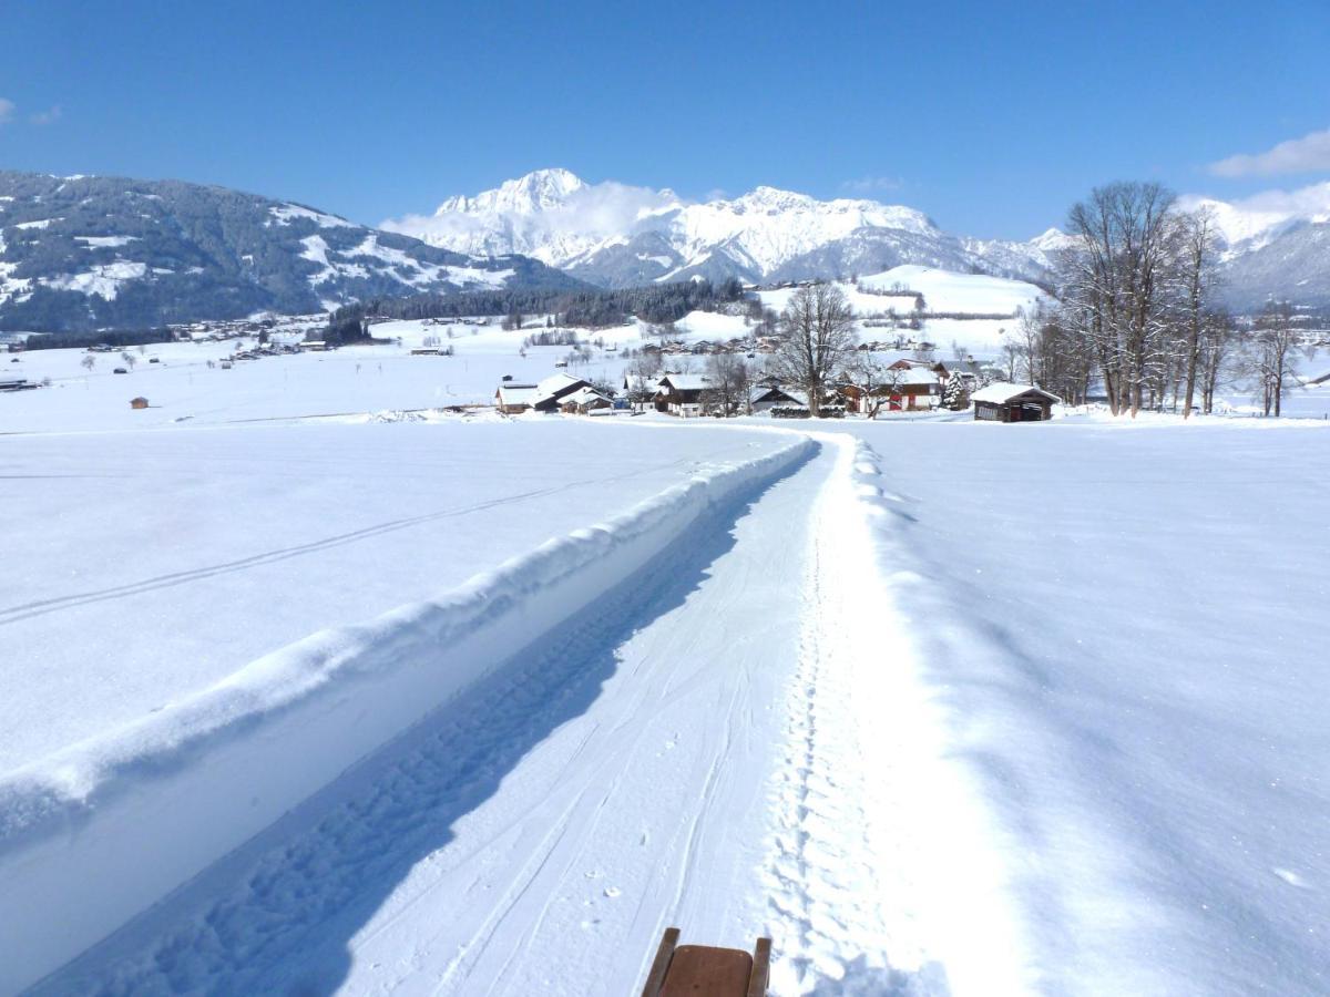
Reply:
<svg viewBox="0 0 1330 997"><path fill-rule="evenodd" d="M822 437L39 990L624 994L677 924L771 935L773 993L946 993L850 670L853 461Z"/></svg>

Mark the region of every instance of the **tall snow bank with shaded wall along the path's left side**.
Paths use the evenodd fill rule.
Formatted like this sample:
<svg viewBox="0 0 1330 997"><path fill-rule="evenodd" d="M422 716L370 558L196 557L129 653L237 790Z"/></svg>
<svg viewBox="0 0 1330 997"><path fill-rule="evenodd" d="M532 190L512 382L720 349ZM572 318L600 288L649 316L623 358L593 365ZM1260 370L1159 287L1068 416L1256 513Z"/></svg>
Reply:
<svg viewBox="0 0 1330 997"><path fill-rule="evenodd" d="M815 448L705 471L446 596L314 634L0 782L0 992L161 900Z"/></svg>

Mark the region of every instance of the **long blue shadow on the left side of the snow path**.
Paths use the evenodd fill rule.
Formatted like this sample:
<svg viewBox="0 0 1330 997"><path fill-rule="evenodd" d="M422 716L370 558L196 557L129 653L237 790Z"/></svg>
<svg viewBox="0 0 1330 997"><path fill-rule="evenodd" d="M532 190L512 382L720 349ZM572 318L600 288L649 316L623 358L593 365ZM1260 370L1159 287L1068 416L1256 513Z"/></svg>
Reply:
<svg viewBox="0 0 1330 997"><path fill-rule="evenodd" d="M335 992L350 970L350 940L394 888L454 840L455 823L493 796L524 755L587 713L618 667L620 645L682 605L734 546L737 520L813 453L705 513L686 542L33 993Z"/></svg>

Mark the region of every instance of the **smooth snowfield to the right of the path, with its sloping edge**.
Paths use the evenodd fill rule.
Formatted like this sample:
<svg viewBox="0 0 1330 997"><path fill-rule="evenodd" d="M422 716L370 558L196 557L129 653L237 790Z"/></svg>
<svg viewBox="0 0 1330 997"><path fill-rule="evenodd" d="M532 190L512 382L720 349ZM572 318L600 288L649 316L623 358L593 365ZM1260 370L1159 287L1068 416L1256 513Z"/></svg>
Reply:
<svg viewBox="0 0 1330 997"><path fill-rule="evenodd" d="M1330 432L858 427L1031 989L1330 986Z"/></svg>

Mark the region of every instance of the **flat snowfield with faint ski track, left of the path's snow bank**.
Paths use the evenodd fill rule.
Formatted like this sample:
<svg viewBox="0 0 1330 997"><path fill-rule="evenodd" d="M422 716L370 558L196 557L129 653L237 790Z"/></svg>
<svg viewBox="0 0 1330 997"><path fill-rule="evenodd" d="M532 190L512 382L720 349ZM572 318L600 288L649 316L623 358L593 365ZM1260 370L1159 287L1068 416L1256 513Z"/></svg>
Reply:
<svg viewBox="0 0 1330 997"><path fill-rule="evenodd" d="M0 772L773 439L540 420L12 437Z"/></svg>

